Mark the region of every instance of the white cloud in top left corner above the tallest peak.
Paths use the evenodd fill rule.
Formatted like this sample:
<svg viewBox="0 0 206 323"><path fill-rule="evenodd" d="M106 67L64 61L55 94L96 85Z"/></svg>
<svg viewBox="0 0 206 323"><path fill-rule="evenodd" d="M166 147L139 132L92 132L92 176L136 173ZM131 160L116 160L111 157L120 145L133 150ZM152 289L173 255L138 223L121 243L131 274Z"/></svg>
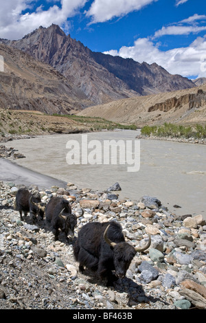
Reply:
<svg viewBox="0 0 206 323"><path fill-rule="evenodd" d="M52 5L48 10L38 7L35 12L22 14L23 10L30 8L32 0L2 1L0 11L0 37L18 39L28 32L32 32L40 25L48 27L52 23L62 25L68 17L76 14L87 0L60 0L61 7Z"/></svg>

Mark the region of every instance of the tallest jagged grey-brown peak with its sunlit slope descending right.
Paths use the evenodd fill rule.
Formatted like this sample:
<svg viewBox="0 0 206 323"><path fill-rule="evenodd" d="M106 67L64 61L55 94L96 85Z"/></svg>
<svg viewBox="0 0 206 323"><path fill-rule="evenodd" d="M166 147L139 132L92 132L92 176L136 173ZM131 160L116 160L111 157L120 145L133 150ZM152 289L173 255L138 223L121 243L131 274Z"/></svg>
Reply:
<svg viewBox="0 0 206 323"><path fill-rule="evenodd" d="M3 43L52 65L67 78L79 98L98 104L134 96L122 80L95 63L87 47L66 36L58 25L39 27L19 41L3 40Z"/></svg>

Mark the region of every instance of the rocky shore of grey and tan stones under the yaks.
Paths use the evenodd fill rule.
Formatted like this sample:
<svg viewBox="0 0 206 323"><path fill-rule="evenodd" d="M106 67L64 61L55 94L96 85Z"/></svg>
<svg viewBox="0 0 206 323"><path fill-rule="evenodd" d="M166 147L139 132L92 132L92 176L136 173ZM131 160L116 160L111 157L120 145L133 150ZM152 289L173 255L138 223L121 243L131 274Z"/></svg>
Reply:
<svg viewBox="0 0 206 323"><path fill-rule="evenodd" d="M78 271L73 241L13 210L15 183L0 183L0 309L206 309L206 224L201 214L179 216L156 197L119 199L119 186L104 192L53 186L40 190L68 199L78 217L75 238L90 221L119 221L126 241L150 248L137 253L126 278L108 288L98 276ZM38 188L36 188L38 189ZM111 189L113 191L111 191Z"/></svg>

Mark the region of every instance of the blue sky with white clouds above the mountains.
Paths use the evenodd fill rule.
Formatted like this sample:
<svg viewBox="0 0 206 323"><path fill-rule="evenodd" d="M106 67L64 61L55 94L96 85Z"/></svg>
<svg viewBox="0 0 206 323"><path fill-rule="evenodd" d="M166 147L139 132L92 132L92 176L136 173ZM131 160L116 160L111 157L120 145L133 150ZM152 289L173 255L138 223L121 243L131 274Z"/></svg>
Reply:
<svg viewBox="0 0 206 323"><path fill-rule="evenodd" d="M93 52L206 77L206 0L0 0L0 38L59 25Z"/></svg>

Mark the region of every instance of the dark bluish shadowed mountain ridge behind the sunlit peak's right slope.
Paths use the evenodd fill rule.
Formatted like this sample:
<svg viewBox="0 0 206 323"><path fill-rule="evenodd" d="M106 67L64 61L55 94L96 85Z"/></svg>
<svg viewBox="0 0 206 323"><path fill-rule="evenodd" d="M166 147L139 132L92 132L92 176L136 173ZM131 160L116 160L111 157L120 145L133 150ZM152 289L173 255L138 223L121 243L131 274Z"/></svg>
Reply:
<svg viewBox="0 0 206 323"><path fill-rule="evenodd" d="M140 64L132 58L95 52L92 55L97 63L124 80L130 89L137 91L141 96L194 87L193 82L188 78L172 75L156 63L149 65L144 62Z"/></svg>

